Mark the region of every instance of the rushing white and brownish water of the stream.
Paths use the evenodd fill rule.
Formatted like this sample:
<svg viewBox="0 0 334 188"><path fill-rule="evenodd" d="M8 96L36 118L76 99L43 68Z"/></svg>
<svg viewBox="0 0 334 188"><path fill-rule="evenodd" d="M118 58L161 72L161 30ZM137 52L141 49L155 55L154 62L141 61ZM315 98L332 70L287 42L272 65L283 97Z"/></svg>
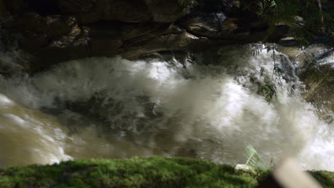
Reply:
<svg viewBox="0 0 334 188"><path fill-rule="evenodd" d="M91 157L150 155L246 162L294 156L305 169L334 170L334 122L300 97L287 58L221 48L210 66L151 58L87 58L29 78L0 76L0 167ZM258 92L281 83L279 103Z"/></svg>

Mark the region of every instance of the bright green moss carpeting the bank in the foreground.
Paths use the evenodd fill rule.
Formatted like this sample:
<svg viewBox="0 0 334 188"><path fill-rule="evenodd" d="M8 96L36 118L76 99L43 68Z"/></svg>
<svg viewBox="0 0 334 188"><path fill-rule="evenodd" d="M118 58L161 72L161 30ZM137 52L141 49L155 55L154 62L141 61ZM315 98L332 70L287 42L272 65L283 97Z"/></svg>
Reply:
<svg viewBox="0 0 334 188"><path fill-rule="evenodd" d="M255 187L267 175L255 177L204 160L134 157L9 167L0 170L0 187ZM313 172L313 176L333 186L332 172Z"/></svg>

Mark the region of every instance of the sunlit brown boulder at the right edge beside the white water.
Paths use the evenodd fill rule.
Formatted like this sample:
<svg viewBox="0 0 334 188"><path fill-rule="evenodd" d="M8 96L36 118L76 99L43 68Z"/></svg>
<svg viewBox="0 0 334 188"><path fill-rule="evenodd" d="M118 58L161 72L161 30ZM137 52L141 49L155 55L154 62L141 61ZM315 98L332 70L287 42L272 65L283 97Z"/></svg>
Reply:
<svg viewBox="0 0 334 188"><path fill-rule="evenodd" d="M310 46L297 53L299 77L305 84L303 97L318 110L320 117L334 120L334 48ZM291 52L293 53L293 52Z"/></svg>

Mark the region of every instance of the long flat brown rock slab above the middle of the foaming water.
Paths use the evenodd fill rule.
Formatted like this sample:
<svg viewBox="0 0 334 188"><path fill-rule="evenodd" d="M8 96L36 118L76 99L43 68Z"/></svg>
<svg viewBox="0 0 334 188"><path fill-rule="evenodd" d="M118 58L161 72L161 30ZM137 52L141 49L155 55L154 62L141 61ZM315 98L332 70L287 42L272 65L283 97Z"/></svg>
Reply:
<svg viewBox="0 0 334 188"><path fill-rule="evenodd" d="M109 23L93 24L89 28L89 43L93 55L97 56L121 54L136 58L155 51L188 51L207 41L207 38L193 36L175 24Z"/></svg>

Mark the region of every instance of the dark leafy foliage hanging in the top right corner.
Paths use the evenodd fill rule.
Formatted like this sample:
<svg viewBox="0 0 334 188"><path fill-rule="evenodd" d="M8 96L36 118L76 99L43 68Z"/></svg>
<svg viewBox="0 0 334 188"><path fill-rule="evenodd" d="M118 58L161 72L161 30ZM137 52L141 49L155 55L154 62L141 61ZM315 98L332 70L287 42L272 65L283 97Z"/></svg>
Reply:
<svg viewBox="0 0 334 188"><path fill-rule="evenodd" d="M320 37L333 40L333 18L321 10L315 0L241 0L246 9L270 24L273 31L278 23L290 26L290 34L302 46L308 46Z"/></svg>

